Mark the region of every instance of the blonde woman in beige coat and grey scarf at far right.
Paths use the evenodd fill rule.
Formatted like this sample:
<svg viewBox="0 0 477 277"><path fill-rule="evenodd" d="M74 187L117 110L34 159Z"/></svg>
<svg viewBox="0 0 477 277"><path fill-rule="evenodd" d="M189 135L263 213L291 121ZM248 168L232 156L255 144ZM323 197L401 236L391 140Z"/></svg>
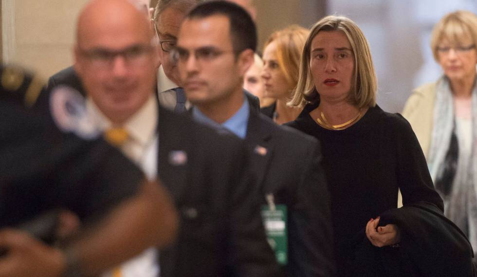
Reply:
<svg viewBox="0 0 477 277"><path fill-rule="evenodd" d="M431 48L444 74L409 97L409 120L429 166L445 215L477 250L477 17L469 11L444 16ZM476 259L474 258L476 261Z"/></svg>

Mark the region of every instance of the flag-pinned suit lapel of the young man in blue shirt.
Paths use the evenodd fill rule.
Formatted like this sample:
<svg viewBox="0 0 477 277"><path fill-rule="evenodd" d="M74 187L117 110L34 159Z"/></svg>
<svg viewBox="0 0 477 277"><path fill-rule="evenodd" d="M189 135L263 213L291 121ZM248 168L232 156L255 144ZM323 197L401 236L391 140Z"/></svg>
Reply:
<svg viewBox="0 0 477 277"><path fill-rule="evenodd" d="M250 147L250 170L256 177L257 185L263 187L263 179L273 157L272 130L263 124L257 111L250 109L245 141Z"/></svg>

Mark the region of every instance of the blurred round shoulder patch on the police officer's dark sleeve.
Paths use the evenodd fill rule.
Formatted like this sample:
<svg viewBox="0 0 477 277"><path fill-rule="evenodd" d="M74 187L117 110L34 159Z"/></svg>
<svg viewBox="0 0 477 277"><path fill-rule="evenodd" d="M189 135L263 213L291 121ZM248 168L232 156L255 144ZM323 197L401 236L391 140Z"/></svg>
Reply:
<svg viewBox="0 0 477 277"><path fill-rule="evenodd" d="M55 87L50 94L50 110L56 125L64 132L72 132L86 140L101 134L86 112L85 98L70 87Z"/></svg>

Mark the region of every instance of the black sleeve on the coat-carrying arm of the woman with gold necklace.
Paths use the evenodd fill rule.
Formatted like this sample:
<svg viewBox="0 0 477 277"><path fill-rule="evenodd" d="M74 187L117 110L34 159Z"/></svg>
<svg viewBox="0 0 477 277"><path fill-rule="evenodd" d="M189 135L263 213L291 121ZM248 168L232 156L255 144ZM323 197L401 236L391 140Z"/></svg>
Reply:
<svg viewBox="0 0 477 277"><path fill-rule="evenodd" d="M397 114L394 125L398 184L403 195L403 205L426 201L443 211L444 204L434 189L422 148L411 126L400 114Z"/></svg>

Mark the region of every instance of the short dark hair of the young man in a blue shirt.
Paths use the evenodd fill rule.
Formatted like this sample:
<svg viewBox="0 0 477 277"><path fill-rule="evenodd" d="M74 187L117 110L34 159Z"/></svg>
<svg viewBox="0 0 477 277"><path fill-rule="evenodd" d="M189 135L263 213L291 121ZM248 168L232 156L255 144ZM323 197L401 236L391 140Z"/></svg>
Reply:
<svg viewBox="0 0 477 277"><path fill-rule="evenodd" d="M257 49L257 28L250 14L239 5L222 0L207 1L197 5L186 19L201 19L223 15L230 22L230 36L236 54L246 49Z"/></svg>

